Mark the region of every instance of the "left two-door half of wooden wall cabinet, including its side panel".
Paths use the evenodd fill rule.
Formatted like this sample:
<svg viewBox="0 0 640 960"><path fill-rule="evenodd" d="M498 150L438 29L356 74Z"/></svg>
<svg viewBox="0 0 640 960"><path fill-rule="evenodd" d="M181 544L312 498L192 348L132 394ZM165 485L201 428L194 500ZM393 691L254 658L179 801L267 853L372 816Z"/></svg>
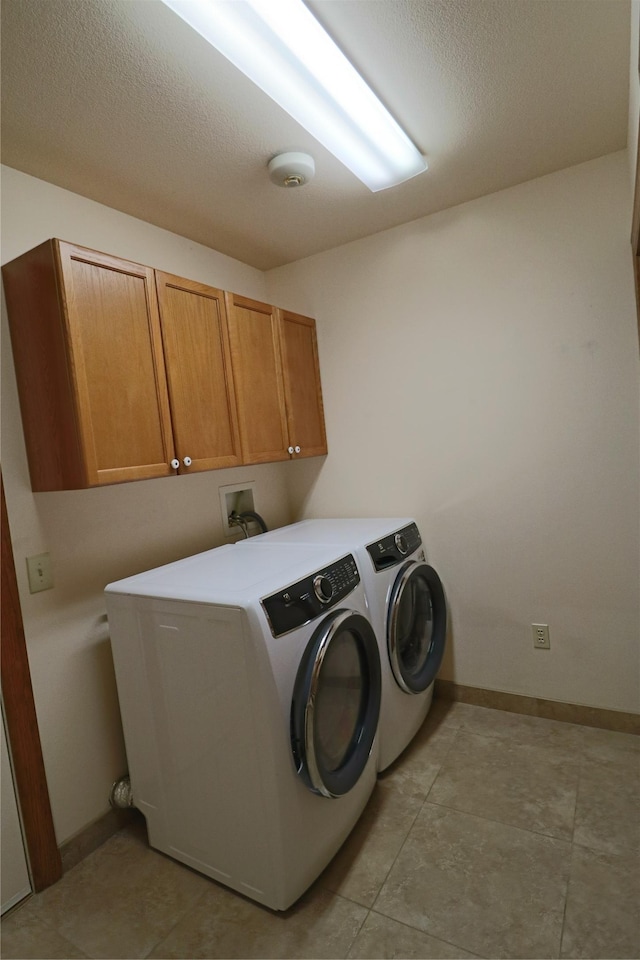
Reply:
<svg viewBox="0 0 640 960"><path fill-rule="evenodd" d="M240 463L221 291L60 240L3 277L34 491Z"/></svg>

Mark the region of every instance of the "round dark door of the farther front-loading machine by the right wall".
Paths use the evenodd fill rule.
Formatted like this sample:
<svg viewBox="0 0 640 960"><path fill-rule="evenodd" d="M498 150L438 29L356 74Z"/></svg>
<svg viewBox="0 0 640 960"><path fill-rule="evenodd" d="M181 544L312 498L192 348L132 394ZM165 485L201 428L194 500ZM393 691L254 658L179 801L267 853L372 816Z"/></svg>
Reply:
<svg viewBox="0 0 640 960"><path fill-rule="evenodd" d="M393 676L405 693L422 693L444 656L447 608L440 577L429 564L409 560L389 598L387 648Z"/></svg>

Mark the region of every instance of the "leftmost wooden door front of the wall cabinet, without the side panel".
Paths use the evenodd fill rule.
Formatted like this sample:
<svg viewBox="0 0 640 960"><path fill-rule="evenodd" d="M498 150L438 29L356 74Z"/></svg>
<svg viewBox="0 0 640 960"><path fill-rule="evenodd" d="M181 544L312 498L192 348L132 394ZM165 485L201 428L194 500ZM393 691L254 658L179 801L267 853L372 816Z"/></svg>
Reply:
<svg viewBox="0 0 640 960"><path fill-rule="evenodd" d="M153 271L70 244L59 251L89 483L167 476L173 441Z"/></svg>

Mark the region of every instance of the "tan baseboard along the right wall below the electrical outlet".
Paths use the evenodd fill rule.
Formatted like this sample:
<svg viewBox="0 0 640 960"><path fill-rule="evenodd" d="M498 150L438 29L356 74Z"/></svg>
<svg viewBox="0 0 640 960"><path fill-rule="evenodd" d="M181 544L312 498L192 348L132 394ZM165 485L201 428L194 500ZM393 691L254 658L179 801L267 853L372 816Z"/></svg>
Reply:
<svg viewBox="0 0 640 960"><path fill-rule="evenodd" d="M453 680L436 680L434 695L441 700L459 700L478 707L492 707L509 713L523 713L530 717L547 720L563 720L579 723L585 727L601 727L618 733L640 734L640 715L618 710L603 710L600 707L584 707L577 703L543 700L540 697L523 697L517 693L501 693L482 687L467 687Z"/></svg>

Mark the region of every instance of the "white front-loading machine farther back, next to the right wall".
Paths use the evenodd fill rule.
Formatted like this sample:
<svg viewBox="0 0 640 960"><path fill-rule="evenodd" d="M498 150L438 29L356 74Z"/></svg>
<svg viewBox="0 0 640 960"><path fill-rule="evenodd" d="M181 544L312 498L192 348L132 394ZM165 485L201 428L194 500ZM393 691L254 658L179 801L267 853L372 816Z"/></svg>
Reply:
<svg viewBox="0 0 640 960"><path fill-rule="evenodd" d="M353 551L382 660L378 769L416 735L431 706L442 663L447 608L440 577L425 558L411 518L303 520L249 542L333 543Z"/></svg>

